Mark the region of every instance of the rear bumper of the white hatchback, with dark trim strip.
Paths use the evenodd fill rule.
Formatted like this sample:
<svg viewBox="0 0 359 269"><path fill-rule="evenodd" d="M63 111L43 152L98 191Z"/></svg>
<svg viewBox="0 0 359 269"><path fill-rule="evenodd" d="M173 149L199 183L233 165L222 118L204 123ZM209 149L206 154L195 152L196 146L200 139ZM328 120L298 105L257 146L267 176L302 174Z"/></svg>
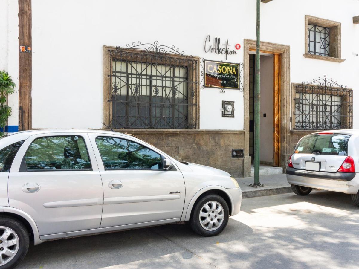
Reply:
<svg viewBox="0 0 359 269"><path fill-rule="evenodd" d="M358 193L359 180L356 173L327 173L287 168L287 181L292 185L315 189L337 191L340 193Z"/></svg>

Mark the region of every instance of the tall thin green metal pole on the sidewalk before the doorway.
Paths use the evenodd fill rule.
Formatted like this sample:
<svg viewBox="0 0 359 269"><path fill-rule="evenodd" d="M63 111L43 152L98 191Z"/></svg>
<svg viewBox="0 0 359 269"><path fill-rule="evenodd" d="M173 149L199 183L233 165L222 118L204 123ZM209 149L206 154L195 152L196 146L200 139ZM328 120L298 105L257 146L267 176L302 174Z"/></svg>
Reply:
<svg viewBox="0 0 359 269"><path fill-rule="evenodd" d="M261 84L260 84L260 16L261 1L257 0L257 46L256 46L256 78L254 89L254 184L253 186L261 186L259 182L259 161L260 161L260 100Z"/></svg>

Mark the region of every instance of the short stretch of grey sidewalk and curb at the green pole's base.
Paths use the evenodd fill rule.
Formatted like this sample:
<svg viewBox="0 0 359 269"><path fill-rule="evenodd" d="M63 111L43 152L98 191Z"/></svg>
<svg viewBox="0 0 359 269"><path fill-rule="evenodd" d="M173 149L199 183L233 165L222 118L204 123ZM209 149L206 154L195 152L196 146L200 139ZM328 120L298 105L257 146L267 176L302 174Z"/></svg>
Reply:
<svg viewBox="0 0 359 269"><path fill-rule="evenodd" d="M238 177L236 180L242 189L242 198L290 193L292 191L285 174L261 175L260 182L264 187L256 188L250 186L254 182L254 177Z"/></svg>

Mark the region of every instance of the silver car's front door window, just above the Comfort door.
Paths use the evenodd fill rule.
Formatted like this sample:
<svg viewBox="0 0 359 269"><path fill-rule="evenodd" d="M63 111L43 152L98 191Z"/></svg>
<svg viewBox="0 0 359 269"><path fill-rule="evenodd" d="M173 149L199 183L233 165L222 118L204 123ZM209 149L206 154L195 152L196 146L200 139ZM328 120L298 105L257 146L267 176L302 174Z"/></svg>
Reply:
<svg viewBox="0 0 359 269"><path fill-rule="evenodd" d="M160 154L136 142L98 136L96 144L106 170L111 169L162 169Z"/></svg>

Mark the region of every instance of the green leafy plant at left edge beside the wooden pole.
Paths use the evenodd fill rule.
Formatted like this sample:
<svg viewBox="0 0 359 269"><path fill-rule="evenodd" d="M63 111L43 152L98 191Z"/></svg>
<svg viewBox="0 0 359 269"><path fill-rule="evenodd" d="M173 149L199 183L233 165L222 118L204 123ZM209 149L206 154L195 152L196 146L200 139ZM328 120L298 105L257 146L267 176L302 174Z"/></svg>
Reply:
<svg viewBox="0 0 359 269"><path fill-rule="evenodd" d="M6 104L6 98L14 93L15 83L5 70L0 71L0 127L5 128L6 121L11 116L11 107Z"/></svg>

